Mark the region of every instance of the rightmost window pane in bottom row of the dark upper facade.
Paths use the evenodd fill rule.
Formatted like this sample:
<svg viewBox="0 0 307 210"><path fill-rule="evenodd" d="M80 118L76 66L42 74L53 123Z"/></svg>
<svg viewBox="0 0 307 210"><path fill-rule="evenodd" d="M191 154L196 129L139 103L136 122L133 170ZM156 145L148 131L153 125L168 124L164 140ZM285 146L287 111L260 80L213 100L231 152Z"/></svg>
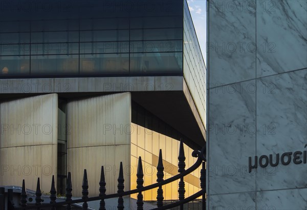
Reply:
<svg viewBox="0 0 307 210"><path fill-rule="evenodd" d="M131 53L130 72L181 73L182 53Z"/></svg>

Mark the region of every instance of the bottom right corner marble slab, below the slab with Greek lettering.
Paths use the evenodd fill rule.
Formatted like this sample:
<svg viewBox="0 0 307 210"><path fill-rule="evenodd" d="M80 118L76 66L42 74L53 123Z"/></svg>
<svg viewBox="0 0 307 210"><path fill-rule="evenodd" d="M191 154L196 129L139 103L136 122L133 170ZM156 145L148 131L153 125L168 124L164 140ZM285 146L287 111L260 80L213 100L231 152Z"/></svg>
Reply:
<svg viewBox="0 0 307 210"><path fill-rule="evenodd" d="M307 189L257 192L256 209L306 210Z"/></svg>

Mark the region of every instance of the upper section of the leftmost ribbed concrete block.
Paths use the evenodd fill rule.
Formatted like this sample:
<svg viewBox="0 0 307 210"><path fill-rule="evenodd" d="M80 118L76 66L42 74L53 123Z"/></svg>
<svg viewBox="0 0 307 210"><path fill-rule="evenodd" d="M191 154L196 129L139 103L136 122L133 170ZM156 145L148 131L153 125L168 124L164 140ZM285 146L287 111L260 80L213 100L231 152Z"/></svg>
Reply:
<svg viewBox="0 0 307 210"><path fill-rule="evenodd" d="M57 142L57 94L0 103L0 148Z"/></svg>

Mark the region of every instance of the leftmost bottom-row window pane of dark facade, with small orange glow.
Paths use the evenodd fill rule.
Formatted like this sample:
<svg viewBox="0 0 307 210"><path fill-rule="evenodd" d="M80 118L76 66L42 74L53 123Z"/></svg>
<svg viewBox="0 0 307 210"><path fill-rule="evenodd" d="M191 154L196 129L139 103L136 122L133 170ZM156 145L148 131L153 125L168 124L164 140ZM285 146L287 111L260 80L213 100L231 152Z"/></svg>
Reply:
<svg viewBox="0 0 307 210"><path fill-rule="evenodd" d="M30 56L0 56L0 75L29 74Z"/></svg>

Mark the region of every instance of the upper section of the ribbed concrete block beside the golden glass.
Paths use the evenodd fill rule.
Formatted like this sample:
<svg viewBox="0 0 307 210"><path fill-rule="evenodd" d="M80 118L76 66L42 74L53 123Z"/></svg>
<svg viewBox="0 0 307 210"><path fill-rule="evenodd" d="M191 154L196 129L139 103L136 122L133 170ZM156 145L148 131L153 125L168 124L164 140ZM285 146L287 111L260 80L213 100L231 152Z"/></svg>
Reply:
<svg viewBox="0 0 307 210"><path fill-rule="evenodd" d="M128 144L130 100L119 93L69 102L68 148Z"/></svg>

